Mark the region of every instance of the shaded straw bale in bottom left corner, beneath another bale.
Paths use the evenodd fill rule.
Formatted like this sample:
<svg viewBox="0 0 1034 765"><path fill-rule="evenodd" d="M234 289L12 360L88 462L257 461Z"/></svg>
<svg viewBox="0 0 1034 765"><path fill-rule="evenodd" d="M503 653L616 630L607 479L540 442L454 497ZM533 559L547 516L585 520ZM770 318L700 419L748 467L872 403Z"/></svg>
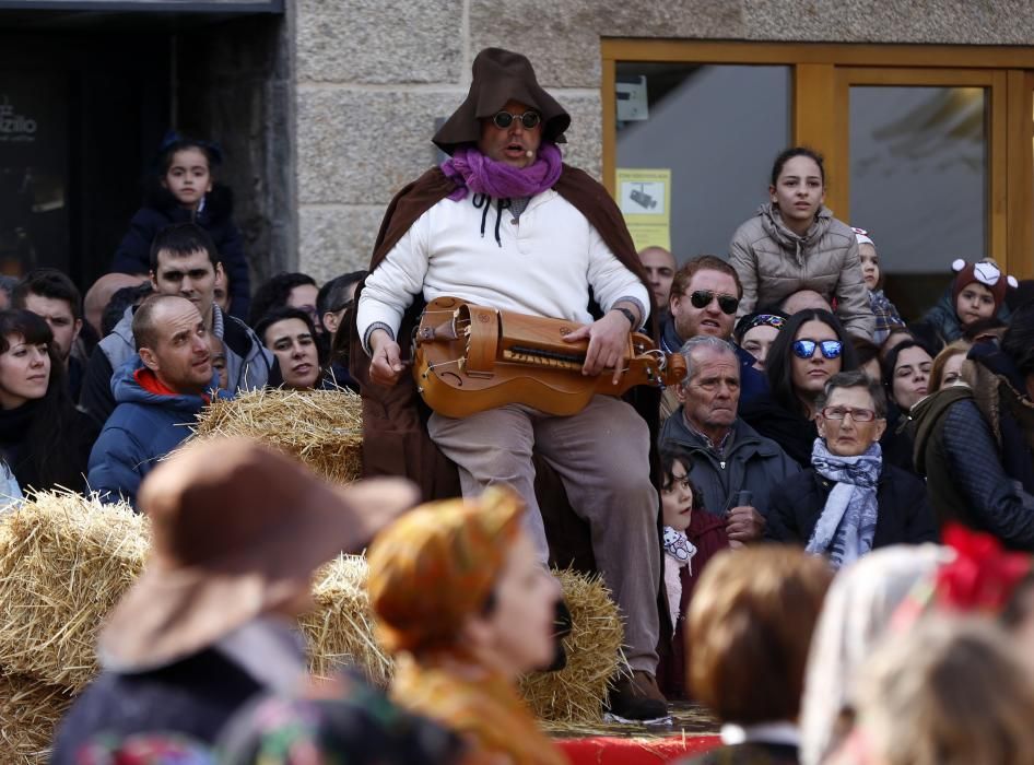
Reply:
<svg viewBox="0 0 1034 765"><path fill-rule="evenodd" d="M0 675L0 762L46 763L55 728L71 703L62 688L24 675Z"/></svg>

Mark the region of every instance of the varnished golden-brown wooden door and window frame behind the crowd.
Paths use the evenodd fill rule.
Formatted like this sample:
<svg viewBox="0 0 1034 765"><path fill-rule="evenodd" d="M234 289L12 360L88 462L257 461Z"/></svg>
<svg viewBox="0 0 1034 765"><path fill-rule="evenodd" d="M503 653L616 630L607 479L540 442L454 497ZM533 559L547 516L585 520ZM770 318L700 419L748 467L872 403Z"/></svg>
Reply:
<svg viewBox="0 0 1034 765"><path fill-rule="evenodd" d="M614 196L619 61L789 66L791 137L826 157L827 201L849 220L850 85L985 87L989 94L988 254L1034 276L1034 48L709 40L601 40L603 184Z"/></svg>

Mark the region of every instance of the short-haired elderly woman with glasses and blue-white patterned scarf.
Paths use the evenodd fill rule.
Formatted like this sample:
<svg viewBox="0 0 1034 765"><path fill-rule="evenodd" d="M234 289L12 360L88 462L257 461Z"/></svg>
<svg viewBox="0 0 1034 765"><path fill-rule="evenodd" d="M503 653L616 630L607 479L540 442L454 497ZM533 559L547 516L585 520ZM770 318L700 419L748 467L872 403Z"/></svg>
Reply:
<svg viewBox="0 0 1034 765"><path fill-rule="evenodd" d="M811 468L776 486L769 539L801 544L835 568L889 544L937 541L921 480L883 461L886 399L861 372L826 380L816 401Z"/></svg>

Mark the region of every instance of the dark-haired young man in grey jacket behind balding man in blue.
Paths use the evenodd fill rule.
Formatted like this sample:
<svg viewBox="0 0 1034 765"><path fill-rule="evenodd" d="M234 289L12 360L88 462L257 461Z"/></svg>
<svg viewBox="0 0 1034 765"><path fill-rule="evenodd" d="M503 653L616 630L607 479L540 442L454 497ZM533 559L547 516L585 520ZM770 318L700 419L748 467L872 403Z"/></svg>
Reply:
<svg viewBox="0 0 1034 765"><path fill-rule="evenodd" d="M151 284L160 295L178 295L193 303L209 333L219 338L226 351L226 379L231 392L261 388L271 378L280 380L280 369L258 336L239 319L215 305L215 281L222 271L215 244L193 223L176 223L154 237L151 245ZM81 405L104 423L115 410L111 392L114 370L137 353L132 333L132 308L94 350L86 367Z"/></svg>

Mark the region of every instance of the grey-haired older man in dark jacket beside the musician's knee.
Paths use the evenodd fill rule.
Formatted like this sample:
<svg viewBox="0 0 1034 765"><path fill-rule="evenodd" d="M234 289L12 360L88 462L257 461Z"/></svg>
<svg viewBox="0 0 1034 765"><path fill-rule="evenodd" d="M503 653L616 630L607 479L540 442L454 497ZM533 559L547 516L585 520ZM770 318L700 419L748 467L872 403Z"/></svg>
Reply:
<svg viewBox="0 0 1034 765"><path fill-rule="evenodd" d="M682 346L682 355L681 405L665 422L660 448L691 456L690 478L704 495L704 507L726 519L733 546L759 540L768 493L800 468L778 444L737 417L740 364L731 344L701 336Z"/></svg>

